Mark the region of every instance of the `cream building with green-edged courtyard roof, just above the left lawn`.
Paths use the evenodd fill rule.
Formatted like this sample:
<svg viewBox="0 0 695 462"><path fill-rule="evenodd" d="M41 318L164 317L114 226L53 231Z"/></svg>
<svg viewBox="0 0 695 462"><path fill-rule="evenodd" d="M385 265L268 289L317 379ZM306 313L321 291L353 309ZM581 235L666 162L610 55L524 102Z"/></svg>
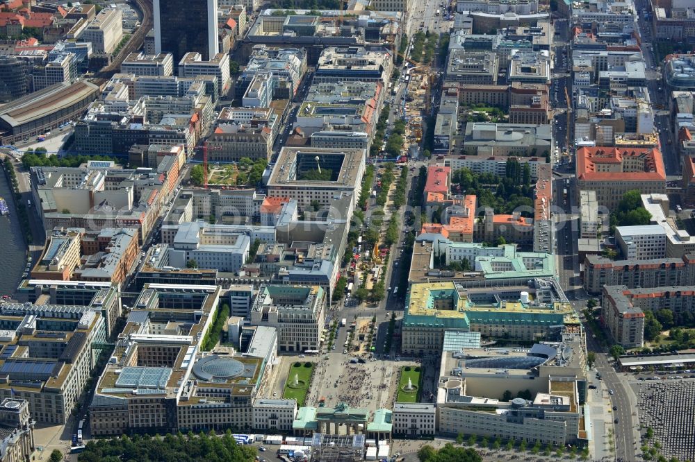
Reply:
<svg viewBox="0 0 695 462"><path fill-rule="evenodd" d="M275 327L279 352L320 349L326 291L320 286L261 286L251 324Z"/></svg>

